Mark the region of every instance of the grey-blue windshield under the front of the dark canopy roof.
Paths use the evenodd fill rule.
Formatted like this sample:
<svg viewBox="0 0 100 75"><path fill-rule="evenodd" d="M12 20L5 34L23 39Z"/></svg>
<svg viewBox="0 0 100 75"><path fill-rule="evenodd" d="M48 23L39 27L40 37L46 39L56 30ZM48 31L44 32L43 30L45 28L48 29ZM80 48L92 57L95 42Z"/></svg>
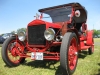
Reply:
<svg viewBox="0 0 100 75"><path fill-rule="evenodd" d="M64 22L70 19L72 7L61 7L51 10L46 10L44 13L50 15L53 22Z"/></svg>

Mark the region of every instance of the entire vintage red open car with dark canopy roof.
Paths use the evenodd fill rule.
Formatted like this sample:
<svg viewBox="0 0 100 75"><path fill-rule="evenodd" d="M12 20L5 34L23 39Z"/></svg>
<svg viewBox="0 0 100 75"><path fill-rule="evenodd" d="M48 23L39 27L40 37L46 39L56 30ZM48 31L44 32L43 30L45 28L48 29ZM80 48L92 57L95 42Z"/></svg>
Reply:
<svg viewBox="0 0 100 75"><path fill-rule="evenodd" d="M64 75L74 73L78 52L94 52L93 31L87 30L87 11L79 3L40 9L41 16L27 25L26 33L18 32L2 45L2 59L8 66L32 60L60 60ZM50 15L52 23L44 21Z"/></svg>

